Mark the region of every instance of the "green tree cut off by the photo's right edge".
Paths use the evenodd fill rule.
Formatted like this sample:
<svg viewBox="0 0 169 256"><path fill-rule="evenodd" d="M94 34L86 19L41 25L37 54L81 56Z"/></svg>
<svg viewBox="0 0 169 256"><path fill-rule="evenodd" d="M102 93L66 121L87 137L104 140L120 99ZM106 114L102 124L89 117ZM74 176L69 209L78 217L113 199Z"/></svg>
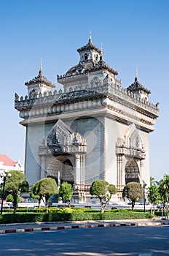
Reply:
<svg viewBox="0 0 169 256"><path fill-rule="evenodd" d="M163 179L160 180L158 191L163 203L163 208L165 208L165 204L169 201L169 175L165 174Z"/></svg>

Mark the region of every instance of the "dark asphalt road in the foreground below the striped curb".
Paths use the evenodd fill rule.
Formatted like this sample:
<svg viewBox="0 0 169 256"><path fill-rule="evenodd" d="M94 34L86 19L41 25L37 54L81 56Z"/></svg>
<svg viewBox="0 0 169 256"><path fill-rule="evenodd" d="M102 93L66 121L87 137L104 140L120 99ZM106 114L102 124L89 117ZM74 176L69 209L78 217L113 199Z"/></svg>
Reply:
<svg viewBox="0 0 169 256"><path fill-rule="evenodd" d="M1 256L166 256L169 226L101 227L1 234Z"/></svg>

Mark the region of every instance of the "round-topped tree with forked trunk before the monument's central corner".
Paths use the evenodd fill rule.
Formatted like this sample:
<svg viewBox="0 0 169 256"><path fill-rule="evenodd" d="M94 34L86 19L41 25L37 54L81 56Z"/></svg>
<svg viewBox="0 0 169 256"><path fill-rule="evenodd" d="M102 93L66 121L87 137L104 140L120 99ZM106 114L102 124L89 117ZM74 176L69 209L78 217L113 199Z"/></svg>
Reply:
<svg viewBox="0 0 169 256"><path fill-rule="evenodd" d="M90 195L95 195L100 200L101 213L105 211L106 205L111 199L111 195L116 193L116 187L113 184L109 184L109 182L103 180L93 181L93 184L90 187ZM104 200L106 200L105 203L103 203Z"/></svg>

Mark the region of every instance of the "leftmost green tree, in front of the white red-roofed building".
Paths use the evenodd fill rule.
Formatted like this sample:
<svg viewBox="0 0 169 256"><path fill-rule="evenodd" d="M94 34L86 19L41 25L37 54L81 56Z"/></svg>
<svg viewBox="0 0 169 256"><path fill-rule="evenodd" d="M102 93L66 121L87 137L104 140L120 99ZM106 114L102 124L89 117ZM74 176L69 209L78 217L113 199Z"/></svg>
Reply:
<svg viewBox="0 0 169 256"><path fill-rule="evenodd" d="M15 214L17 211L17 197L25 186L25 175L20 173L19 170L11 170L9 173L11 177L7 176L5 192L13 197L13 213Z"/></svg>

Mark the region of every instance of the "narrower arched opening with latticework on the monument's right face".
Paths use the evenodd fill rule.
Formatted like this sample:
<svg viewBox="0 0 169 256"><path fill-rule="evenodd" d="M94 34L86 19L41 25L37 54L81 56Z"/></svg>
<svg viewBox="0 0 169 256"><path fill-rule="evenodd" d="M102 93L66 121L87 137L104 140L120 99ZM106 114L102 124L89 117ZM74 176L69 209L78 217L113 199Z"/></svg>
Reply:
<svg viewBox="0 0 169 256"><path fill-rule="evenodd" d="M134 159L128 160L125 165L125 184L129 182L140 183L138 164Z"/></svg>

